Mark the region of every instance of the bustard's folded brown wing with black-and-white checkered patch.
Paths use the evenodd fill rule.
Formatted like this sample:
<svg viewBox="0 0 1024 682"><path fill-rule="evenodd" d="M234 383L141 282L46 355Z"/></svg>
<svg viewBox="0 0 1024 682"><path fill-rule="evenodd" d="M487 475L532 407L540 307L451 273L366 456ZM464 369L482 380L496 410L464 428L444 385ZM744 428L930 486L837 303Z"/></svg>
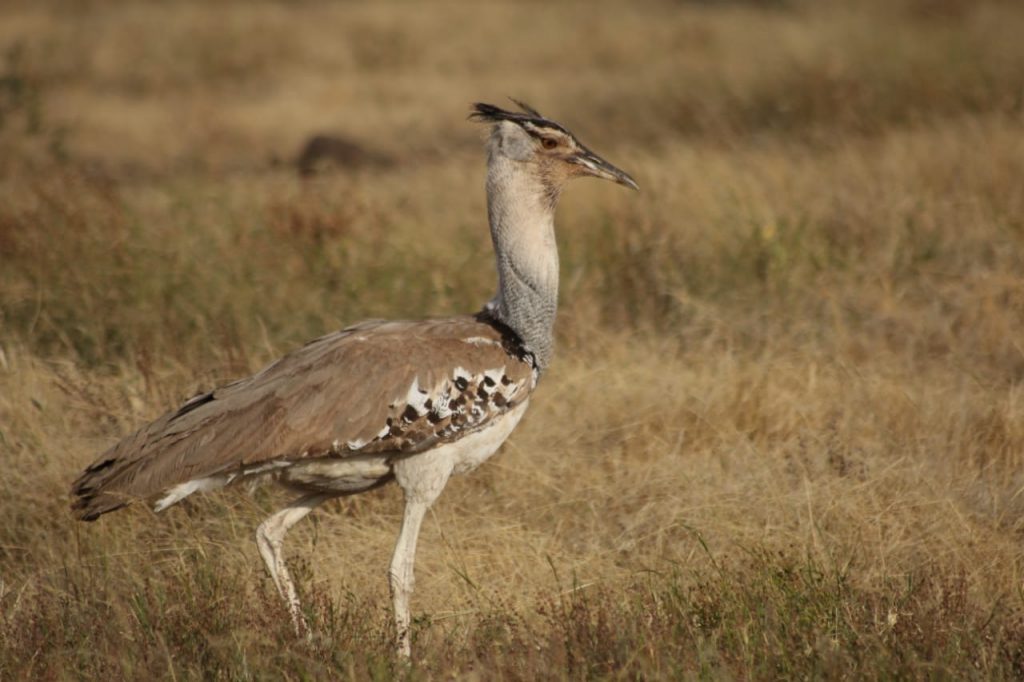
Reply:
<svg viewBox="0 0 1024 682"><path fill-rule="evenodd" d="M522 402L537 374L476 316L368 322L202 393L106 451L74 483L79 516L178 483L311 457L422 452Z"/></svg>

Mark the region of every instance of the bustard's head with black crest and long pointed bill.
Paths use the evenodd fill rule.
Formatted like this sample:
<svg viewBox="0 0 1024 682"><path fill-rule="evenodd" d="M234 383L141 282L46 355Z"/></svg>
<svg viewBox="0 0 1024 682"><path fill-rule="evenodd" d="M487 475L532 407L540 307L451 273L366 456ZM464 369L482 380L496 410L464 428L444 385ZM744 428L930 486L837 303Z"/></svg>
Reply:
<svg viewBox="0 0 1024 682"><path fill-rule="evenodd" d="M529 164L530 170L555 197L566 181L584 175L640 188L626 171L588 150L564 126L545 118L531 106L513 101L521 112L507 112L494 104L473 104L471 119L495 124L492 154Z"/></svg>

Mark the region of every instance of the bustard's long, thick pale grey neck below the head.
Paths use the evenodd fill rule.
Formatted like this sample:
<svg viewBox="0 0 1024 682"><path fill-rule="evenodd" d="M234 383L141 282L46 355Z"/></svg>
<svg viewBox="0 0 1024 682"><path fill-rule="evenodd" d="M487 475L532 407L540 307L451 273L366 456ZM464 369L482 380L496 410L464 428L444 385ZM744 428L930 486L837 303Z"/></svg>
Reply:
<svg viewBox="0 0 1024 682"><path fill-rule="evenodd" d="M539 370L554 351L558 247L552 190L531 165L494 152L487 164L487 217L498 262L498 294L487 310L534 355Z"/></svg>

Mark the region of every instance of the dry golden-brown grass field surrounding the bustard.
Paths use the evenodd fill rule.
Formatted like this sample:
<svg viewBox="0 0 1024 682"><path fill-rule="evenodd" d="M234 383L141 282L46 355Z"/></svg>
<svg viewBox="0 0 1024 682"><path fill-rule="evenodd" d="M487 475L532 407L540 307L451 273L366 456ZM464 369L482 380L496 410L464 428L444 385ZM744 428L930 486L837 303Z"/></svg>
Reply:
<svg viewBox="0 0 1024 682"><path fill-rule="evenodd" d="M1024 5L0 5L0 680L1024 676ZM453 480L73 521L119 436L494 290L471 101L640 183L559 209L558 351ZM394 160L300 180L318 132Z"/></svg>

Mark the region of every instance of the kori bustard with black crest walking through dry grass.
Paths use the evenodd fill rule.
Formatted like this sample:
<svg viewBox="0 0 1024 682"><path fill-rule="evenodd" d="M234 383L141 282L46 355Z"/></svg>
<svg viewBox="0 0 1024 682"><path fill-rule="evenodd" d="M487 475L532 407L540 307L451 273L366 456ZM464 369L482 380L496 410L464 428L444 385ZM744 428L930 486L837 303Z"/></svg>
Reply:
<svg viewBox="0 0 1024 682"><path fill-rule="evenodd" d="M162 511L197 491L269 477L301 494L256 531L296 631L308 633L282 554L285 534L317 505L394 480L406 510L389 583L400 655L424 515L453 474L505 441L551 361L558 302L555 206L567 180L638 188L563 126L477 103L487 140L487 217L498 293L472 315L365 322L324 336L261 372L199 394L117 443L75 481L91 521L135 499Z"/></svg>

